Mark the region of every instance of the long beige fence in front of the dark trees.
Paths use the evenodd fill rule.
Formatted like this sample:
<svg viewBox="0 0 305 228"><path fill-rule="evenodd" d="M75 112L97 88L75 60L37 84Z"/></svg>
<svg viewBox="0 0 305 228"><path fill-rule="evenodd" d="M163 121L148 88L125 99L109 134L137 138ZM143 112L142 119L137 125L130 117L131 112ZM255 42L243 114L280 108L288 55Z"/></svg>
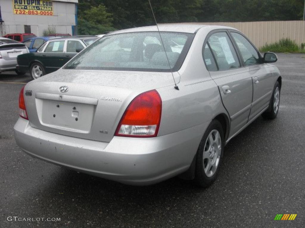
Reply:
<svg viewBox="0 0 305 228"><path fill-rule="evenodd" d="M261 21L261 22L202 22L192 24L224 25L238 29L258 47L290 38L300 46L305 43L305 21Z"/></svg>

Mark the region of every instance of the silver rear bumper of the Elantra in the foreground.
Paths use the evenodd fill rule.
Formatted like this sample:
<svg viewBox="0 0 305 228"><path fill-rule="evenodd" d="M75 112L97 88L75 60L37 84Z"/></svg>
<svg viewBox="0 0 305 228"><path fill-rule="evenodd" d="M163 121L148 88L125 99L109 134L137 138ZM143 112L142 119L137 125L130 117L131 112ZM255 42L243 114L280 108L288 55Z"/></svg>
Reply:
<svg viewBox="0 0 305 228"><path fill-rule="evenodd" d="M81 172L150 185L186 171L206 124L155 138L113 137L110 143L45 132L19 118L15 139L26 153Z"/></svg>

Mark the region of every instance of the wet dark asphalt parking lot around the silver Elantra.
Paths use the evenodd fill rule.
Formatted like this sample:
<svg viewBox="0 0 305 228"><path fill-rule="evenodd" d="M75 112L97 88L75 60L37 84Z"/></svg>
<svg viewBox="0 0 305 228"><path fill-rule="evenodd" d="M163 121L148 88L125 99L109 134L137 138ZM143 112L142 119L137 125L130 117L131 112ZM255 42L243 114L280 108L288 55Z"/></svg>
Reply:
<svg viewBox="0 0 305 228"><path fill-rule="evenodd" d="M207 189L179 178L128 186L28 156L13 126L30 76L0 74L0 227L304 227L305 54L278 54L275 65L282 73L278 117L258 118L228 143ZM277 214L297 216L274 221Z"/></svg>

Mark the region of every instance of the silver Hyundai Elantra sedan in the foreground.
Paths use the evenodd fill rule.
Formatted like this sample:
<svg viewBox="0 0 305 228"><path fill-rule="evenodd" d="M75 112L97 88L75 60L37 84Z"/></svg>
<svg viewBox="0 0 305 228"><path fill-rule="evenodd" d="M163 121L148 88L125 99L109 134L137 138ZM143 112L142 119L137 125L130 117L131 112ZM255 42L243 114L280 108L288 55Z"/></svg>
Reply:
<svg viewBox="0 0 305 228"><path fill-rule="evenodd" d="M25 85L14 126L19 147L126 184L180 174L209 186L226 143L258 116L277 116L282 78L269 64L277 57L262 57L229 27L159 29L105 35Z"/></svg>

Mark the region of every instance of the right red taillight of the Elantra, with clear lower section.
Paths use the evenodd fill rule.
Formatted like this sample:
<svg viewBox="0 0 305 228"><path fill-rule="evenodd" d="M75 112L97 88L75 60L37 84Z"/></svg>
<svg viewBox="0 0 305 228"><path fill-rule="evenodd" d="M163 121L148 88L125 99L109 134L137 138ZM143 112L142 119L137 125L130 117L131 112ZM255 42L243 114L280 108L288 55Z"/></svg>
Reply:
<svg viewBox="0 0 305 228"><path fill-rule="evenodd" d="M156 90L141 93L128 105L115 136L156 137L162 112L162 100Z"/></svg>

